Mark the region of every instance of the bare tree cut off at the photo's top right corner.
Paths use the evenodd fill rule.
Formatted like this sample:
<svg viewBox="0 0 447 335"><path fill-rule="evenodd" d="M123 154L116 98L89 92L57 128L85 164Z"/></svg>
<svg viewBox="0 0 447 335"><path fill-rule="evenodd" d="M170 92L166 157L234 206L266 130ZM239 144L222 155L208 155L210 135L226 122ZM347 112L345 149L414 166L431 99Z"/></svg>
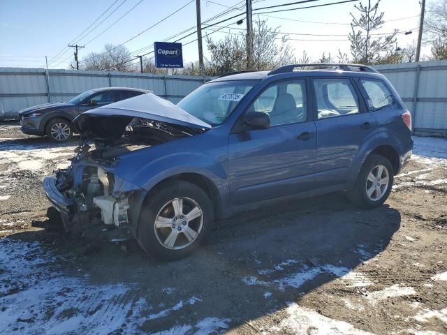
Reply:
<svg viewBox="0 0 447 335"><path fill-rule="evenodd" d="M447 40L447 0L437 0L429 4L424 19L425 43Z"/></svg>

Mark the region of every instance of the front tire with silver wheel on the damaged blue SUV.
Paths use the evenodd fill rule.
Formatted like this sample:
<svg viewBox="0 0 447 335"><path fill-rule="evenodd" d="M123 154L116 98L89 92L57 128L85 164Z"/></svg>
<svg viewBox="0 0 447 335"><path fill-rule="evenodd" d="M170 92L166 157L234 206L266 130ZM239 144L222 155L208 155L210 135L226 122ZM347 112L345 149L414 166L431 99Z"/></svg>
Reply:
<svg viewBox="0 0 447 335"><path fill-rule="evenodd" d="M142 204L137 240L149 254L179 260L196 250L213 221L212 202L202 188L187 181L166 181Z"/></svg>

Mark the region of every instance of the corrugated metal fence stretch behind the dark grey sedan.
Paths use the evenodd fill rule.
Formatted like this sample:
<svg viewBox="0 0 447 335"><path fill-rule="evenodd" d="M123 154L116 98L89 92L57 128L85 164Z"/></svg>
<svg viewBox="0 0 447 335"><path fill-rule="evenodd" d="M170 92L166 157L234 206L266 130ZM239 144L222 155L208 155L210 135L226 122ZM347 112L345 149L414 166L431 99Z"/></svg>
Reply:
<svg viewBox="0 0 447 335"><path fill-rule="evenodd" d="M210 77L205 80L210 80ZM203 77L103 71L0 68L0 119L17 117L23 108L67 101L98 87L134 87L177 103L203 84Z"/></svg>

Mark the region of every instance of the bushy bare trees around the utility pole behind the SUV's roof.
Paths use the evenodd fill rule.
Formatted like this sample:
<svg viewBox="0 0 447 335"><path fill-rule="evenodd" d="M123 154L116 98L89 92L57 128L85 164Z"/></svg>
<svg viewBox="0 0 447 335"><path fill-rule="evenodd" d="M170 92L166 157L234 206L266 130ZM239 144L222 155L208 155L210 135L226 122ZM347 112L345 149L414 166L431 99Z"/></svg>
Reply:
<svg viewBox="0 0 447 335"><path fill-rule="evenodd" d="M223 40L214 41L205 37L210 51L208 74L218 75L233 71L247 70L247 40L245 32L226 35ZM256 20L254 27L254 64L249 70L268 70L276 66L291 63L293 50L287 36L280 36L279 28L268 27L265 20ZM206 68L205 68L206 70Z"/></svg>

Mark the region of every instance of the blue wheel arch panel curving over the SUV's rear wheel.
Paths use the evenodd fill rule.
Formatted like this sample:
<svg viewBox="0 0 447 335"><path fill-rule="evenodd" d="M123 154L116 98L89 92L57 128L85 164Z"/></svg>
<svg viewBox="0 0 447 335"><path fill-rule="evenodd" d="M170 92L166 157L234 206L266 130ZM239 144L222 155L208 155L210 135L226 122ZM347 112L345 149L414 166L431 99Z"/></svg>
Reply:
<svg viewBox="0 0 447 335"><path fill-rule="evenodd" d="M387 145L393 147L397 154L402 157L404 149L400 140L397 139L396 135L391 131L379 131L378 133L373 133L371 136L365 140L362 147L358 150L356 158L354 158L351 168L349 168L349 177L347 180L348 185L353 185L357 179L358 171L362 168L363 163L365 163L366 158L369 154L374 151L377 147L381 145Z"/></svg>

